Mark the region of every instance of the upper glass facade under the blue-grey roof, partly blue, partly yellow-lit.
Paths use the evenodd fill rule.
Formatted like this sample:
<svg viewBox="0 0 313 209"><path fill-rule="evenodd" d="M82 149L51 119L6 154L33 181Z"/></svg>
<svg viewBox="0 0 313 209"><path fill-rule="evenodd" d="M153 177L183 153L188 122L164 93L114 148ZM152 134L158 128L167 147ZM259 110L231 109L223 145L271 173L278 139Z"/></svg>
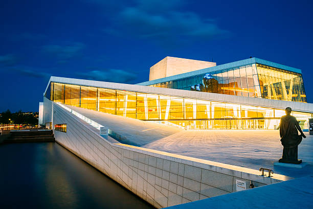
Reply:
<svg viewBox="0 0 313 209"><path fill-rule="evenodd" d="M214 71L151 86L306 102L301 74L260 64Z"/></svg>

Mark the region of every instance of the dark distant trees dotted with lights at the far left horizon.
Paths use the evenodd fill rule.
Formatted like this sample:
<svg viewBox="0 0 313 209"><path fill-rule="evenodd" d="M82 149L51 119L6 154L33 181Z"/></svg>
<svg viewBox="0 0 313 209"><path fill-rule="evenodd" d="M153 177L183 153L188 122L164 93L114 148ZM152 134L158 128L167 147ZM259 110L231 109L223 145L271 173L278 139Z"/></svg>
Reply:
<svg viewBox="0 0 313 209"><path fill-rule="evenodd" d="M11 113L10 110L2 112L0 115L0 124L18 124L23 126L35 126L38 124L36 114L26 114L21 110Z"/></svg>

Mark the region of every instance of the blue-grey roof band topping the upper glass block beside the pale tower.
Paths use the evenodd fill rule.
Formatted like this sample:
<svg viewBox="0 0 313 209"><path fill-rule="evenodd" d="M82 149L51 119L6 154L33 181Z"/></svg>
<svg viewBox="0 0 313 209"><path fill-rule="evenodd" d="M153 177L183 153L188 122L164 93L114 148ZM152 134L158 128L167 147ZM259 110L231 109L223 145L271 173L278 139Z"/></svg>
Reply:
<svg viewBox="0 0 313 209"><path fill-rule="evenodd" d="M239 60L239 61L230 62L230 63L223 64L223 65L218 65L215 67L205 68L205 69L196 70L196 71L183 73L183 74L179 74L179 75L173 75L173 76L160 78L160 79L156 79L156 80L141 82L141 83L137 83L137 85L150 86L150 85L154 85L156 83L167 82L170 80L177 80L177 79L192 77L192 76L201 75L201 74L205 74L205 73L209 73L209 72L213 72L213 71L226 70L229 68L235 68L235 67L245 66L245 65L252 65L252 64L256 64L256 63L261 64L261 65L271 66L274 68L279 68L279 69L290 71L290 72L302 74L302 71L300 69L253 57L253 58L249 58L249 59L243 59L243 60Z"/></svg>

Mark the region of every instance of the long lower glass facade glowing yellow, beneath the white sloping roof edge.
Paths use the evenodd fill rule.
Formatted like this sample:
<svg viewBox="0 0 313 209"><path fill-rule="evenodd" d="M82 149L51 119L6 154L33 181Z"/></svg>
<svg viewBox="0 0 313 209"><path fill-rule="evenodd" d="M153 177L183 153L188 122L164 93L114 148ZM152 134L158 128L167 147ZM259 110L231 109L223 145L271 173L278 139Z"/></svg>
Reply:
<svg viewBox="0 0 313 209"><path fill-rule="evenodd" d="M46 96L65 105L189 129L276 129L284 115L283 110L271 108L56 82L49 88ZM303 125L311 117L293 114Z"/></svg>

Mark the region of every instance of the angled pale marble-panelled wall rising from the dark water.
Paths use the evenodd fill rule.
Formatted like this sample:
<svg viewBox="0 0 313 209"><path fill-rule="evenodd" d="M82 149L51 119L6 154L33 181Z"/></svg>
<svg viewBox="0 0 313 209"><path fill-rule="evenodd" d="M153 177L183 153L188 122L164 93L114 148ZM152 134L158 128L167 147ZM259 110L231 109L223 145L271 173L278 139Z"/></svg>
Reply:
<svg viewBox="0 0 313 209"><path fill-rule="evenodd" d="M129 191L157 208L236 192L236 179L255 186L276 183L284 176L259 176L237 166L174 155L126 144L110 143L99 130L53 103L53 123L66 123L66 133L55 131L58 143ZM105 188L104 188L105 189Z"/></svg>

